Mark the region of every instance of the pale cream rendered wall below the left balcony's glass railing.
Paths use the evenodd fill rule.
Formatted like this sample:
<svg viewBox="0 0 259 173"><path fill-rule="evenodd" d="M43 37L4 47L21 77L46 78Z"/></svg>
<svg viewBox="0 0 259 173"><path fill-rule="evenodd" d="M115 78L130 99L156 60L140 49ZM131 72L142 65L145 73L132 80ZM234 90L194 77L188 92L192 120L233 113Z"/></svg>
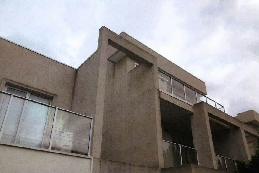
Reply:
<svg viewBox="0 0 259 173"><path fill-rule="evenodd" d="M90 173L91 159L0 144L1 173Z"/></svg>

